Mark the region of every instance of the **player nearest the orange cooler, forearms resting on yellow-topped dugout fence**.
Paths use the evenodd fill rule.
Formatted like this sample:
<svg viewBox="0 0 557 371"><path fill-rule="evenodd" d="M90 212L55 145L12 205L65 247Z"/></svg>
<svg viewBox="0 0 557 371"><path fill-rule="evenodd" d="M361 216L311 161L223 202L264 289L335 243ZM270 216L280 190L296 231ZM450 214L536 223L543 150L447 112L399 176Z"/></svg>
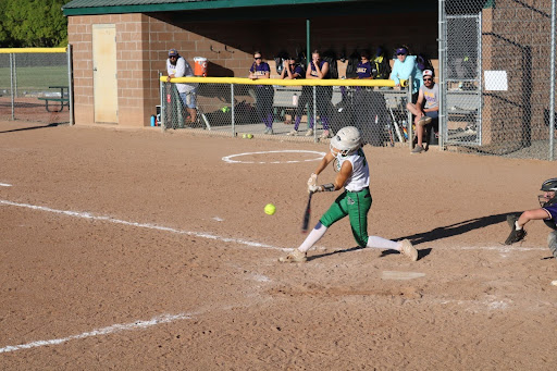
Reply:
<svg viewBox="0 0 557 371"><path fill-rule="evenodd" d="M249 78L270 78L271 67L263 62L261 52L253 53L253 64L249 69ZM265 124L264 134L273 134L273 99L274 89L271 85L258 85L256 87L257 112L259 119Z"/></svg>

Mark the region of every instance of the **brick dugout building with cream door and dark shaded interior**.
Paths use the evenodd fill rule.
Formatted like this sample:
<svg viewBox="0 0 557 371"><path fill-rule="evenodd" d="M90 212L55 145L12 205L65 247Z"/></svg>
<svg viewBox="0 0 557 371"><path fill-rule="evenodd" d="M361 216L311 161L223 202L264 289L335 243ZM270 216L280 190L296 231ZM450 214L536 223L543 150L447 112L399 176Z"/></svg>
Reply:
<svg viewBox="0 0 557 371"><path fill-rule="evenodd" d="M310 49L336 54L400 44L437 59L436 0L74 0L63 7L73 46L76 124L149 126L168 50L209 62L209 76L246 77L252 52L272 60ZM436 65L435 65L436 66ZM271 77L277 77L277 74ZM202 77L200 77L202 78Z"/></svg>

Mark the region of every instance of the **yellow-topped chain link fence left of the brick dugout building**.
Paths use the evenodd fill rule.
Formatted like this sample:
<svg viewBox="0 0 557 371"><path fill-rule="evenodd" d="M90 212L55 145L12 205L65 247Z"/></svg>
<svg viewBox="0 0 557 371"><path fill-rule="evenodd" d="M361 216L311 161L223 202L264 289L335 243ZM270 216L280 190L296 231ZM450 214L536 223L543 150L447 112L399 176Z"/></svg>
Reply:
<svg viewBox="0 0 557 371"><path fill-rule="evenodd" d="M0 49L0 120L72 123L71 48Z"/></svg>

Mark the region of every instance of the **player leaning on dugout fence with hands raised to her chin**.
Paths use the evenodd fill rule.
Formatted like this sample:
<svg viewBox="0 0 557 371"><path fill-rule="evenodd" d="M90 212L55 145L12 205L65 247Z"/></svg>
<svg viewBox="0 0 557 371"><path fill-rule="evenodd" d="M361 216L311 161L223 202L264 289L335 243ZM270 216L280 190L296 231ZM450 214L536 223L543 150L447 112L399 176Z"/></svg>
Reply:
<svg viewBox="0 0 557 371"><path fill-rule="evenodd" d="M311 62L308 63L308 70L306 70L306 78L313 79L329 79L329 63L321 59L321 55L318 50L313 50L311 53ZM315 103L317 103L317 113L321 118L321 122L323 123L323 133L321 134L321 138L329 137L329 111L331 107L331 99L333 98L333 87L332 86L315 86ZM313 122L309 123L310 131L313 129ZM312 133L312 132L311 132Z"/></svg>

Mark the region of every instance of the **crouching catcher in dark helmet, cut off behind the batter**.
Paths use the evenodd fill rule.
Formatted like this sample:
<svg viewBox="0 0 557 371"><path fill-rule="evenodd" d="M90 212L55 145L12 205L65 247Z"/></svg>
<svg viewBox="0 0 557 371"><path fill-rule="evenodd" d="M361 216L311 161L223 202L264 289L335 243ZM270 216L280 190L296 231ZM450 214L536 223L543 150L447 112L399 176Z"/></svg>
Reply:
<svg viewBox="0 0 557 371"><path fill-rule="evenodd" d="M505 245L511 245L524 238L527 232L523 227L531 220L543 220L553 230L547 236L547 245L554 258L557 259L557 177L545 181L540 190L544 193L537 196L541 208L524 211L518 219L516 215L507 217L511 231ZM557 286L557 280L553 281L552 285Z"/></svg>

